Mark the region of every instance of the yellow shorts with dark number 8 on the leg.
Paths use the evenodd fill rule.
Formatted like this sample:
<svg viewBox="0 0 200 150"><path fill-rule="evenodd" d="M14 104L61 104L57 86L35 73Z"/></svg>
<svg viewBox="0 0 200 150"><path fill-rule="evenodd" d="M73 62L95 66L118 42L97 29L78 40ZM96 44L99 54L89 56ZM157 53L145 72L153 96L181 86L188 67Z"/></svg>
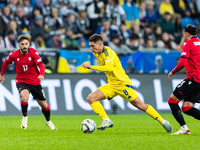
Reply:
<svg viewBox="0 0 200 150"><path fill-rule="evenodd" d="M105 98L110 100L113 97L119 95L123 99L128 100L129 102L133 101L136 97L138 97L137 92L134 90L132 85L124 85L120 87L111 87L110 84L103 85L98 88L103 94Z"/></svg>

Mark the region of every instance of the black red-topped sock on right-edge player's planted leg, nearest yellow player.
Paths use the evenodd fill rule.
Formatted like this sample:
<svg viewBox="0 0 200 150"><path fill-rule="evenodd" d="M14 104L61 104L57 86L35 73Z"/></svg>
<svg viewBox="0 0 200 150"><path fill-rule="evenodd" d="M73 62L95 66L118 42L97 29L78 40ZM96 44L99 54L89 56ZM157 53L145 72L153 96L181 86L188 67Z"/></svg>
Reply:
<svg viewBox="0 0 200 150"><path fill-rule="evenodd" d="M186 125L183 115L181 113L181 108L178 105L178 101L172 99L171 97L168 100L169 107L171 108L172 115L176 119L176 121L180 124L180 126Z"/></svg>

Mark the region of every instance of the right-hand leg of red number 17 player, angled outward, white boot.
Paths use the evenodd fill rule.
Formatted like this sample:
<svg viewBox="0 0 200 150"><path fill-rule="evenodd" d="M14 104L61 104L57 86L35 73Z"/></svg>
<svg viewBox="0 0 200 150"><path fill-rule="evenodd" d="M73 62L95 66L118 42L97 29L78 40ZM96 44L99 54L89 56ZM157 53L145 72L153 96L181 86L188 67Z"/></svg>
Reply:
<svg viewBox="0 0 200 150"><path fill-rule="evenodd" d="M33 95L33 98L36 99L38 104L41 106L42 113L44 114L44 117L46 118L46 125L51 130L56 130L56 127L50 120L50 108L49 108L49 104L46 101L46 97L42 89L42 86L35 85L35 86L30 86L30 87L31 87L31 94Z"/></svg>

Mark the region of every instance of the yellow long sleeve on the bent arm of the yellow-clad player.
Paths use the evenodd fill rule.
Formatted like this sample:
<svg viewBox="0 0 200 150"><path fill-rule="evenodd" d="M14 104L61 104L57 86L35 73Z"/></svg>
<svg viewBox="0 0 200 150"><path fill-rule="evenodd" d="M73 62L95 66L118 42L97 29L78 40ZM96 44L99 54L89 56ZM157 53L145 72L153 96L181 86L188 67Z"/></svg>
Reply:
<svg viewBox="0 0 200 150"><path fill-rule="evenodd" d="M108 51L105 51L103 55L105 55L105 64L103 66L92 66L91 69L101 72L111 72L113 70L114 57L112 53L108 53Z"/></svg>

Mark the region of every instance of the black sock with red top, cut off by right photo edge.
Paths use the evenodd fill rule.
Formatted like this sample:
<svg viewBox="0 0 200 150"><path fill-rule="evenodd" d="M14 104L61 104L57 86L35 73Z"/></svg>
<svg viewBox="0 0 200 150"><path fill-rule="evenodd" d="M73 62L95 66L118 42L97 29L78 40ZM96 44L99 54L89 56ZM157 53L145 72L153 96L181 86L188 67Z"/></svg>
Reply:
<svg viewBox="0 0 200 150"><path fill-rule="evenodd" d="M182 110L185 114L200 120L200 111L198 109L190 106L190 107L182 107Z"/></svg>

